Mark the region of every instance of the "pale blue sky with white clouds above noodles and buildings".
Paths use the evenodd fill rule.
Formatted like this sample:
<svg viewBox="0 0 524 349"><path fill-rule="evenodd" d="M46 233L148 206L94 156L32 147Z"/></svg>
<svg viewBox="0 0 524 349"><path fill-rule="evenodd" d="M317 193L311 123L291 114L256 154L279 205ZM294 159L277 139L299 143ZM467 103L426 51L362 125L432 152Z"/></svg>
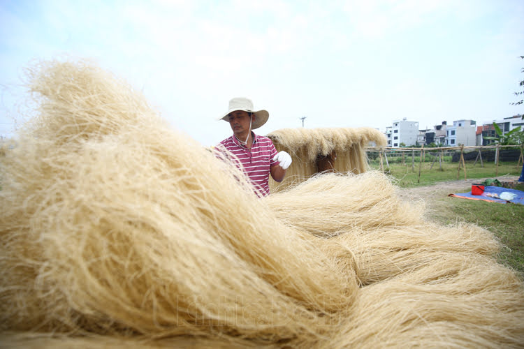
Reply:
<svg viewBox="0 0 524 349"><path fill-rule="evenodd" d="M523 0L0 0L0 135L15 135L24 67L64 55L206 146L232 135L217 119L238 96L268 110L260 135L488 124L524 114L523 18Z"/></svg>

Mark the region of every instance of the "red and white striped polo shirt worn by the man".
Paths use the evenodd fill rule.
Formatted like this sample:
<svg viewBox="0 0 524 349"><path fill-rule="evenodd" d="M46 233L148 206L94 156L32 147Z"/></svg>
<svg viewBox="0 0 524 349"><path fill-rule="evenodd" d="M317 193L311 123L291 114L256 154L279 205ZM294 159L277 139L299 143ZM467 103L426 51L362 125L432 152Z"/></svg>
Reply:
<svg viewBox="0 0 524 349"><path fill-rule="evenodd" d="M254 141L251 149L240 144L234 135L221 141L220 144L238 158L251 183L263 196L267 196L269 195L270 167L278 163L273 160L277 155L277 149L269 138L255 135L255 133L252 135ZM238 167L240 168L239 165Z"/></svg>

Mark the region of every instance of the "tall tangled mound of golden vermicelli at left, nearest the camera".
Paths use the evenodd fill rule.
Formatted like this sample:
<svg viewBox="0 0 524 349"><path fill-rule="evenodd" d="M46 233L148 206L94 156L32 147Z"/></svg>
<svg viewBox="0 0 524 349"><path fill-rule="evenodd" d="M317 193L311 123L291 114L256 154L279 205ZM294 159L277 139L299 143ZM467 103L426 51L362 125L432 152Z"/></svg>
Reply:
<svg viewBox="0 0 524 349"><path fill-rule="evenodd" d="M354 274L125 84L41 69L41 114L2 161L3 329L304 340L351 304Z"/></svg>

